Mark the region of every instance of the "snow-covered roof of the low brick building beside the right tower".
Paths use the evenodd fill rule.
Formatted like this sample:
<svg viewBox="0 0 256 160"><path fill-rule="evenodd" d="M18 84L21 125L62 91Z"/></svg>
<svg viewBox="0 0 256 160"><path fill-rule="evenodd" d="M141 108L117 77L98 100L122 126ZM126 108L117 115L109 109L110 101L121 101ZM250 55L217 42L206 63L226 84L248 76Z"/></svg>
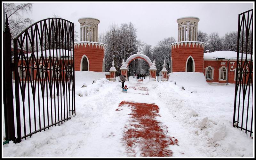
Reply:
<svg viewBox="0 0 256 160"><path fill-rule="evenodd" d="M239 53L239 58L245 59L246 54ZM237 53L235 51L215 51L211 53L204 53L204 59L236 59ZM251 59L251 55L247 55L247 59Z"/></svg>

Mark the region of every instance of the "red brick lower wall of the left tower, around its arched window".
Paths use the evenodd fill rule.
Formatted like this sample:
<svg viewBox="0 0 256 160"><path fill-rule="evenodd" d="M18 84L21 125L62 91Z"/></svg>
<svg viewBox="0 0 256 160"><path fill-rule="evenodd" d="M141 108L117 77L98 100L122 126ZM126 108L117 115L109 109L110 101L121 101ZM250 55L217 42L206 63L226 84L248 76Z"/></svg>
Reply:
<svg viewBox="0 0 256 160"><path fill-rule="evenodd" d="M104 58L104 49L100 46L92 44L89 46L78 45L75 46L75 70L80 71L81 59L83 55L86 55L89 60L89 71L102 72L102 64Z"/></svg>

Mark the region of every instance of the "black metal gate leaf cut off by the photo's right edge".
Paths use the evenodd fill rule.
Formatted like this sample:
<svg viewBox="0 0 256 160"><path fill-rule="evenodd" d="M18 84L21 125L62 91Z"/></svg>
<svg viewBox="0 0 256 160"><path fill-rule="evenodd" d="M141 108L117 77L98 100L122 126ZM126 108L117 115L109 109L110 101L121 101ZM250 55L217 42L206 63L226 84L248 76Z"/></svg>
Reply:
<svg viewBox="0 0 256 160"><path fill-rule="evenodd" d="M253 134L253 10L238 16L233 127ZM239 54L242 53L242 54ZM239 55L241 58L239 58Z"/></svg>

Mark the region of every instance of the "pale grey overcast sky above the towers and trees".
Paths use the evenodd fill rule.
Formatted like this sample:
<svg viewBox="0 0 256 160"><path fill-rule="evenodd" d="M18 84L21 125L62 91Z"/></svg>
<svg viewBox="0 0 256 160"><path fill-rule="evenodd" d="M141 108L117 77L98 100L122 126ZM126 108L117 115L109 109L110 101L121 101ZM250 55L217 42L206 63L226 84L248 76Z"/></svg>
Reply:
<svg viewBox="0 0 256 160"><path fill-rule="evenodd" d="M24 16L39 21L53 13L73 22L79 32L78 18L100 20L99 33L106 32L112 23L132 22L137 28L137 39L155 46L158 41L178 37L180 17L200 19L198 30L220 36L237 31L238 14L253 9L253 3L33 3L33 10Z"/></svg>

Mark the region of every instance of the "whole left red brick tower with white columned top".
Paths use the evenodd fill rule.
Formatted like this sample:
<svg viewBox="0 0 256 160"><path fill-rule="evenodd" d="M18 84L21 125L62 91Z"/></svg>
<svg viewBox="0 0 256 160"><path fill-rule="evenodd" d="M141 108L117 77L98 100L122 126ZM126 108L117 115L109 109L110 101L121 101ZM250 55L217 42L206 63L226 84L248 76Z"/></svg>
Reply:
<svg viewBox="0 0 256 160"><path fill-rule="evenodd" d="M105 44L98 42L96 18L79 18L80 41L75 42L75 70L104 72Z"/></svg>

